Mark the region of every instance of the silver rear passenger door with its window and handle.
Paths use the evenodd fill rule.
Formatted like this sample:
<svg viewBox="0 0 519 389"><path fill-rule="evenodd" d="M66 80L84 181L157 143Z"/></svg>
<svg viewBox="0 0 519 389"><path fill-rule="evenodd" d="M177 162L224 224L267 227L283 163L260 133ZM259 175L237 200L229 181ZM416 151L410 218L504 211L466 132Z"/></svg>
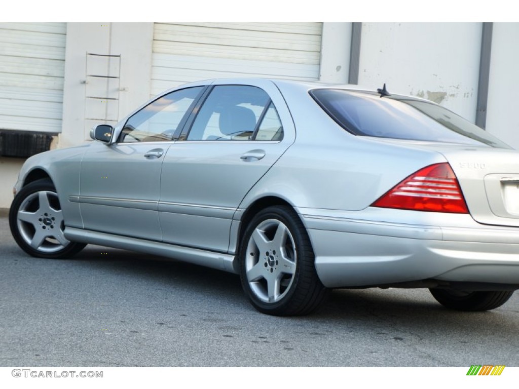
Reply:
<svg viewBox="0 0 519 389"><path fill-rule="evenodd" d="M161 173L165 242L227 252L231 220L250 188L293 143L293 122L271 81L215 85L171 145Z"/></svg>

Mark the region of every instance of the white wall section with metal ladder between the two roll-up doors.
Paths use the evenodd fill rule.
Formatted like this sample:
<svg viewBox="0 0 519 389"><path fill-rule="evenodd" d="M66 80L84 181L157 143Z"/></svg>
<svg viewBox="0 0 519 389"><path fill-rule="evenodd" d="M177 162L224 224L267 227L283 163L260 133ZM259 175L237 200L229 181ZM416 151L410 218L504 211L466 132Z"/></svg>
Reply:
<svg viewBox="0 0 519 389"><path fill-rule="evenodd" d="M87 79L87 52L121 55L118 107L114 115L125 117L130 110L149 99L152 63L153 23L68 23L63 91L63 130L59 147L69 147L89 140L89 130L98 121L85 120L87 88L95 80ZM85 82L91 82L87 86ZM91 104L105 104L98 101Z"/></svg>

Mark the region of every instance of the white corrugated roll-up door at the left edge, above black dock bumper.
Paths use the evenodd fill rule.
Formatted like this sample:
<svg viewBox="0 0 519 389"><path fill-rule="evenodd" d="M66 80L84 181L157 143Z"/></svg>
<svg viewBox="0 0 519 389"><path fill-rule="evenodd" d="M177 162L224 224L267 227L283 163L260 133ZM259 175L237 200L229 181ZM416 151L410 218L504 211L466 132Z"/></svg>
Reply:
<svg viewBox="0 0 519 389"><path fill-rule="evenodd" d="M61 132L66 23L0 23L0 129Z"/></svg>

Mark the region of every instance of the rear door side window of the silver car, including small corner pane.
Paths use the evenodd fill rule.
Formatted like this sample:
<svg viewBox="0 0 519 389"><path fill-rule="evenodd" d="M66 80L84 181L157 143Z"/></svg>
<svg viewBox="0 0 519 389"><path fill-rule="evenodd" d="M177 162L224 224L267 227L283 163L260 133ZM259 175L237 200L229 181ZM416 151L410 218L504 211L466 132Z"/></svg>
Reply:
<svg viewBox="0 0 519 389"><path fill-rule="evenodd" d="M213 88L203 103L187 140L280 140L279 134L275 139L280 128L281 122L276 108L263 89L220 85Z"/></svg>

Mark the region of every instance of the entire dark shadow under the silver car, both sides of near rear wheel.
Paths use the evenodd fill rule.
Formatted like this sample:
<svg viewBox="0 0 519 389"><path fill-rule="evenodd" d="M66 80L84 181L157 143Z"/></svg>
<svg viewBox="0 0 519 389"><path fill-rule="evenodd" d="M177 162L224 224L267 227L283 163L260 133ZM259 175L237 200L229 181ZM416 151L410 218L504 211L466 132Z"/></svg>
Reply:
<svg viewBox="0 0 519 389"><path fill-rule="evenodd" d="M190 263L172 260L156 255L130 252L122 249L89 245L74 260L85 266L95 266L104 271L125 273L130 277L149 279L155 283L177 288L196 289L197 293L226 299L241 305L247 302L241 289L239 276L220 270L210 269ZM247 309L252 310L250 305ZM457 312L447 310L436 302L427 289L335 289L322 307L308 317L329 320L391 320L394 324L430 325L462 320L463 326L477 326L481 317L497 328L502 324L502 312L506 305L490 312ZM495 319L493 319L495 318Z"/></svg>

